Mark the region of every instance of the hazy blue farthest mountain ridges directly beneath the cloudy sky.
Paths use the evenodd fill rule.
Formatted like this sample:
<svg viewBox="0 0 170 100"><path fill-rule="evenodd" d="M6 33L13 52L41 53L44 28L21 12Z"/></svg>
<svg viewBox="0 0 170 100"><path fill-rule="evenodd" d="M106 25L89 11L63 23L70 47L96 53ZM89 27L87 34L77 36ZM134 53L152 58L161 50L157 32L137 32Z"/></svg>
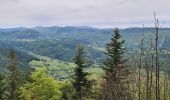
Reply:
<svg viewBox="0 0 170 100"><path fill-rule="evenodd" d="M169 36L170 28L160 28L160 34ZM136 46L143 35L142 28L120 29L123 39L127 41L129 47ZM145 36L155 32L154 28L145 28ZM112 29L97 29L92 27L34 27L34 28L11 28L0 29L0 39L6 40L43 40L70 38L75 40L86 40L104 46L112 35Z"/></svg>

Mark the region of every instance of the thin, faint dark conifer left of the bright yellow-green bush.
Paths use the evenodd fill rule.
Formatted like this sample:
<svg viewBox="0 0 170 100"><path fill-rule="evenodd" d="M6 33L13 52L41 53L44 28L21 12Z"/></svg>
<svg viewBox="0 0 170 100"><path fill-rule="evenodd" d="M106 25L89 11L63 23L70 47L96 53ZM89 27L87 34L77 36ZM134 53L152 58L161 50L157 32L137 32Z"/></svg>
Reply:
<svg viewBox="0 0 170 100"><path fill-rule="evenodd" d="M17 63L16 63L16 53L14 50L10 52L10 65L9 65L9 100L16 100L17 93Z"/></svg>

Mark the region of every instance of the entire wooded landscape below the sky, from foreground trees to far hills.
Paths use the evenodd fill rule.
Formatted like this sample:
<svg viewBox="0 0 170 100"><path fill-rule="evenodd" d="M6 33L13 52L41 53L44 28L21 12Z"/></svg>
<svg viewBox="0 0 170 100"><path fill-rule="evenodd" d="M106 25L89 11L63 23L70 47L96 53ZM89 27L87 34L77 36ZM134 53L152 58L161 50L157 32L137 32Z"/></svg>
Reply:
<svg viewBox="0 0 170 100"><path fill-rule="evenodd" d="M169 100L170 29L0 29L0 100Z"/></svg>

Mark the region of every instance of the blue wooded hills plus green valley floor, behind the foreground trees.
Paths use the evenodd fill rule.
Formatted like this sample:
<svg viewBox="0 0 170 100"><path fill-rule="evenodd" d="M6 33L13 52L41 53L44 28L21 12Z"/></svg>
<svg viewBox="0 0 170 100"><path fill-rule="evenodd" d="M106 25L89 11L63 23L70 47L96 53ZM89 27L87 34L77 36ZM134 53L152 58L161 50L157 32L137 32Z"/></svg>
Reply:
<svg viewBox="0 0 170 100"><path fill-rule="evenodd" d="M155 30L153 28L145 28L144 30L145 42L149 42ZM132 52L135 49L138 50L143 37L142 31L142 28L120 30L128 50L132 50ZM169 32L169 28L160 29L159 44L161 50L169 51L170 49ZM112 29L71 26L0 29L0 49L3 53L6 51L3 50L5 48L15 49L17 52L32 57L25 58L25 60L23 59L24 61L21 60L21 62L24 62L21 66L27 66L28 68L47 66L50 70L59 69L65 72L74 67L72 62L75 48L77 45L82 45L85 47L85 52L89 59L87 62L95 70L100 70L100 66L103 64L102 61L105 59L105 44L109 42L111 34ZM145 47L147 48L148 46L149 44ZM3 53L0 59L2 62L6 60ZM61 73L63 72L61 71Z"/></svg>

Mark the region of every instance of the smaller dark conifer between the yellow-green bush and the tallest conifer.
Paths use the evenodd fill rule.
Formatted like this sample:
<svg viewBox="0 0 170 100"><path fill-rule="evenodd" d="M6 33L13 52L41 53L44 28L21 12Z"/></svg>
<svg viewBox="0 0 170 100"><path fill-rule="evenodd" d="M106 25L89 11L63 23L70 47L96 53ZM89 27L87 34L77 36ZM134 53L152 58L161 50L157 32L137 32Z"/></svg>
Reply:
<svg viewBox="0 0 170 100"><path fill-rule="evenodd" d="M75 97L76 100L84 100L91 90L92 81L87 79L89 73L84 71L84 68L87 66L85 65L85 52L83 47L77 47L74 61L76 64L74 70L75 75L73 77L73 87L76 91Z"/></svg>

